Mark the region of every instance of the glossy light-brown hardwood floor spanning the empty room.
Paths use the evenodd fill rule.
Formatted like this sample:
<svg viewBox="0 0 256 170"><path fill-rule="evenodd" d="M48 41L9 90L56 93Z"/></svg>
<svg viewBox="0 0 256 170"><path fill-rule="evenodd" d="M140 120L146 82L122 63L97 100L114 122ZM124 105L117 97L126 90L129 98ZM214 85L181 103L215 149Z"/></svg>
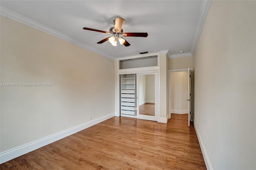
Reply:
<svg viewBox="0 0 256 170"><path fill-rule="evenodd" d="M176 114L175 114L176 115ZM175 115L172 115L174 118ZM6 169L206 169L194 126L113 117L0 165Z"/></svg>

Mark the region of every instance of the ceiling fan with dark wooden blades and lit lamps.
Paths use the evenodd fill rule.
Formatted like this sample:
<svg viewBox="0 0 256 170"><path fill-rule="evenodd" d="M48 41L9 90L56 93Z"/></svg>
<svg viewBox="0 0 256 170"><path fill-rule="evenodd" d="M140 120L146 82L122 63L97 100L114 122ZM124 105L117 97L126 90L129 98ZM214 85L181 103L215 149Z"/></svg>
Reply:
<svg viewBox="0 0 256 170"><path fill-rule="evenodd" d="M102 33L106 33L106 34L111 34L111 37L107 37L97 43L104 43L106 41L109 41L113 46L117 46L117 40L120 42L120 44L124 44L126 47L130 45L130 43L128 43L122 36L124 37L147 37L148 33L146 32L123 32L123 25L125 20L123 18L120 17L116 17L115 20L113 20L114 22L114 27L111 27L109 29L109 32L106 31L101 31L101 30L96 30L96 29L92 29L92 28L86 28L84 27L84 30L90 30L90 31L96 31L96 32L102 32Z"/></svg>

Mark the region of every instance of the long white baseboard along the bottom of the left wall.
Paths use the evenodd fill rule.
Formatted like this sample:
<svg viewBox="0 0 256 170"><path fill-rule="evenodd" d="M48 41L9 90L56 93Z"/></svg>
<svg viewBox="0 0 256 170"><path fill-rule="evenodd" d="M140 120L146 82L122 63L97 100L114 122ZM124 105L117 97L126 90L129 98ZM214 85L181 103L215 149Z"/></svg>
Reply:
<svg viewBox="0 0 256 170"><path fill-rule="evenodd" d="M0 153L0 164L4 163L4 162L7 162L9 160L12 160L14 158L17 158L18 156L21 156L23 154L26 154L28 152L31 152L33 150L36 150L38 148L41 148L43 146L46 146L52 142L55 142L57 140L60 140L62 138L65 138L71 134L74 134L76 132L79 132L81 130L84 130L88 127L91 127L93 125L96 125L102 121L106 121L107 119L110 119L112 117L115 116L115 113L110 113L106 116L103 116L103 117L100 117L98 119L94 119L92 121L89 121L89 122L86 122L82 125L78 125L76 127L73 127L73 128L69 128L67 130L64 130L62 132L58 132L56 134L52 134L50 136L47 136L45 138L42 138L42 139L39 139L39 140L36 140L34 142L30 142L28 144L24 144L22 146L18 146L16 148L13 148L13 149L10 149L10 150L7 150L5 152L2 152Z"/></svg>

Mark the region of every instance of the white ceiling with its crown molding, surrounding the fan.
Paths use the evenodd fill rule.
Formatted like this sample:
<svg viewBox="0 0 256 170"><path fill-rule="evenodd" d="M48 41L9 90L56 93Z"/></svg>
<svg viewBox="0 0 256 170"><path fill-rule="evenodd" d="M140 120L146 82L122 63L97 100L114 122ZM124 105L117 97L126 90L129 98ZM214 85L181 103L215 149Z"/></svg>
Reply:
<svg viewBox="0 0 256 170"><path fill-rule="evenodd" d="M203 0L1 0L1 14L62 38L68 42L116 59L169 51L169 57L194 53L210 1ZM147 32L148 37L125 37L128 47L115 47L108 34L83 27L109 31L116 16L124 18L124 32ZM180 53L180 51L184 51Z"/></svg>

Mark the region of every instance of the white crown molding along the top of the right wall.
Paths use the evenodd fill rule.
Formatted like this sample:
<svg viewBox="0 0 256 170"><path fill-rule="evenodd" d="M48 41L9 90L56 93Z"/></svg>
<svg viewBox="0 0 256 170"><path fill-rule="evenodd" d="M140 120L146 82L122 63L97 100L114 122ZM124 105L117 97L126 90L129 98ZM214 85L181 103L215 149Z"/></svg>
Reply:
<svg viewBox="0 0 256 170"><path fill-rule="evenodd" d="M203 0L202 1L202 6L201 6L199 18L198 18L198 21L197 21L197 24L196 24L197 25L196 26L196 33L194 35L193 42L192 42L191 49L190 49L191 55L194 54L194 51L196 49L196 44L198 42L199 36L200 36L202 28L204 26L204 21L205 21L205 18L207 16L208 10L210 8L210 4L211 4L211 0Z"/></svg>

